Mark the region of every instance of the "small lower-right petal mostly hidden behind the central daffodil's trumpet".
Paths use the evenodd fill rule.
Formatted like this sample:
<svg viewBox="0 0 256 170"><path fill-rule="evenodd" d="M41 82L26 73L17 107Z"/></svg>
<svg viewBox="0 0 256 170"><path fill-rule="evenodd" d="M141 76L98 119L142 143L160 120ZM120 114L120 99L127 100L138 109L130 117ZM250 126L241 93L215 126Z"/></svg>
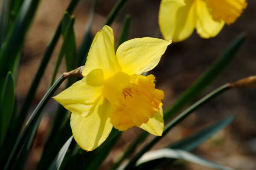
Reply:
<svg viewBox="0 0 256 170"><path fill-rule="evenodd" d="M150 118L147 123L143 123L142 125L140 125L140 128L156 136L162 136L163 127L164 122L162 107L160 107L160 110L157 113L155 113L154 116Z"/></svg>

